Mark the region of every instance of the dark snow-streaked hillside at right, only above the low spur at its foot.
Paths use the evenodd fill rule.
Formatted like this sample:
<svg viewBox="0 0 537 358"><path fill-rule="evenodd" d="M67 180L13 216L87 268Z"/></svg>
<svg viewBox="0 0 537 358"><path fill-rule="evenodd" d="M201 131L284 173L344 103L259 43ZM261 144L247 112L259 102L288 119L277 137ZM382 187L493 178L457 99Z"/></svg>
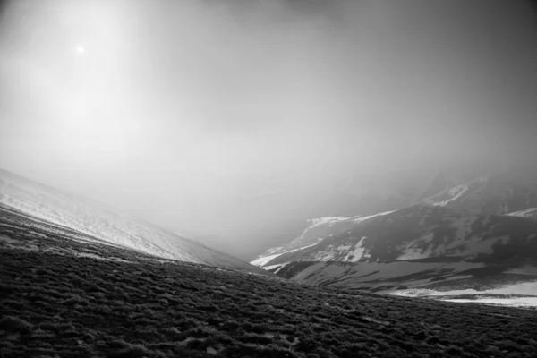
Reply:
<svg viewBox="0 0 537 358"><path fill-rule="evenodd" d="M414 205L371 217L338 218L313 225L288 245L269 250L252 263L267 267L292 260L484 260L501 256L502 250L514 250L511 246L521 243L537 245L537 223L533 220ZM537 251L531 253L537 258Z"/></svg>

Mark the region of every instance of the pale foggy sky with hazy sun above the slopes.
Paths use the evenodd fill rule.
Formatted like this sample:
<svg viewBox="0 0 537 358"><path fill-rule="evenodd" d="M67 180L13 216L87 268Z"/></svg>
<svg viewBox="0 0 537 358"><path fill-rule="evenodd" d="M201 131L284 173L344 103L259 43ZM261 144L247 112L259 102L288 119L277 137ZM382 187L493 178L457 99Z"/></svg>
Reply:
<svg viewBox="0 0 537 358"><path fill-rule="evenodd" d="M537 153L522 0L0 9L0 167L226 244L360 214L338 204L349 183L415 189Z"/></svg>

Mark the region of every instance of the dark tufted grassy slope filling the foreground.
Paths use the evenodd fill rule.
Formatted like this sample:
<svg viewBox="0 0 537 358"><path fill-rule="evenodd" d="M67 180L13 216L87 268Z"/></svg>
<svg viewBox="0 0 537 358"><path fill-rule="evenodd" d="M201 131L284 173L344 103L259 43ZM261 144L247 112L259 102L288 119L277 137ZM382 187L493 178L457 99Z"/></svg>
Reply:
<svg viewBox="0 0 537 358"><path fill-rule="evenodd" d="M299 286L0 216L2 357L535 357L537 311ZM72 240L73 234L79 240ZM310 354L310 355L309 355ZM316 354L316 355L312 355Z"/></svg>

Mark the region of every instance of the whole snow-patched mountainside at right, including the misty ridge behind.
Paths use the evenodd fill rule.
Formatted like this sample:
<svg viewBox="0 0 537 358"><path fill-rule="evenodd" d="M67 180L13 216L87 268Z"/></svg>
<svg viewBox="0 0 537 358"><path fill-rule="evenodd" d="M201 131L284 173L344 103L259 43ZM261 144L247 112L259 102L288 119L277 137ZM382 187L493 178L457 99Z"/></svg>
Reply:
<svg viewBox="0 0 537 358"><path fill-rule="evenodd" d="M470 177L435 178L429 197L402 209L311 220L251 263L309 284L373 289L537 266L537 180L516 171Z"/></svg>

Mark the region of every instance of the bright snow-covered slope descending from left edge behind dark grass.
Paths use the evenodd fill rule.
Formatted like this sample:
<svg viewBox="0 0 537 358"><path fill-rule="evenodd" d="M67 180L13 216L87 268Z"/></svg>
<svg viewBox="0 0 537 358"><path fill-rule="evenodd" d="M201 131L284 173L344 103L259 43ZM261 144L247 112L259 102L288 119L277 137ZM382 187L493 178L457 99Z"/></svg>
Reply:
<svg viewBox="0 0 537 358"><path fill-rule="evenodd" d="M247 262L214 251L140 218L126 215L92 200L60 192L2 169L0 203L116 246L168 259L266 273Z"/></svg>

